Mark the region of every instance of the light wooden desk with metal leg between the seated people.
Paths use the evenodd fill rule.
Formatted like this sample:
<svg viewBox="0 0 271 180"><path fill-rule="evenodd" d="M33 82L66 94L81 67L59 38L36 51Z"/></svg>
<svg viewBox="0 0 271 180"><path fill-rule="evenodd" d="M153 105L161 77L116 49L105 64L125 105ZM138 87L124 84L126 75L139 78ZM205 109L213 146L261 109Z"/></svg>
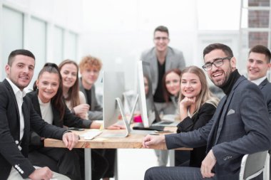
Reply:
<svg viewBox="0 0 271 180"><path fill-rule="evenodd" d="M91 129L85 129L82 132L73 131L76 134L83 134ZM125 130L108 130L104 129L103 133L98 137L92 140L85 140L81 138L76 144L76 148L84 148L85 149L85 178L91 179L91 149L143 149L142 141L143 137L146 134L131 134L128 137L103 137L106 134L110 133L122 133ZM64 147L65 145L61 140L58 139L45 139L44 140L45 147ZM167 149L165 143L159 145L153 145L150 149ZM192 150L191 148L179 148L180 150ZM117 180L117 178L115 178Z"/></svg>

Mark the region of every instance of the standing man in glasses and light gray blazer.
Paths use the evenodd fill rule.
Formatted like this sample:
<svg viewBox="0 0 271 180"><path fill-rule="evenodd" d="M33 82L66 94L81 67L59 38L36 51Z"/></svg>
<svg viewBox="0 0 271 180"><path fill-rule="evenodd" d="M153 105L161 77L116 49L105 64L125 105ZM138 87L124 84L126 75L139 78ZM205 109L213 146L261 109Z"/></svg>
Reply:
<svg viewBox="0 0 271 180"><path fill-rule="evenodd" d="M158 26L153 33L153 43L155 47L144 51L140 60L150 64L149 78L153 89L153 101L158 113L175 114L175 107L172 102L166 103L163 96L163 75L170 69L185 68L183 53L175 48L170 48L168 28ZM166 166L168 163L168 151L155 151L158 157L158 165ZM189 159L189 158L188 158Z"/></svg>

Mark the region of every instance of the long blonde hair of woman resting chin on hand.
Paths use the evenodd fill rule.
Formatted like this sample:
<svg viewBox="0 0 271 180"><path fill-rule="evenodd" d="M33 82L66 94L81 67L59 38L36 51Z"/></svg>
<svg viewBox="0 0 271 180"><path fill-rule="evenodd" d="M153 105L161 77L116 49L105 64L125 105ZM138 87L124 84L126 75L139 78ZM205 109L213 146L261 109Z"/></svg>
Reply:
<svg viewBox="0 0 271 180"><path fill-rule="evenodd" d="M182 73L180 74L180 79L182 79L182 76L184 73L193 73L193 74L197 75L198 78L200 79L200 83L201 83L201 90L200 90L200 94L198 95L198 99L196 100L195 112L193 113L193 115L196 112L198 112L198 110L200 110L200 107L204 103L209 103L209 104L217 107L219 99L218 99L218 97L215 97L215 95L213 95L212 92L210 92L209 87L208 87L208 83L206 80L206 76L205 76L205 73L203 72L203 70L201 70L200 68L198 68L195 65L191 65L191 66L182 70ZM180 83L180 87L181 87L181 83ZM180 91L178 102L180 102L184 98L185 98L185 96Z"/></svg>

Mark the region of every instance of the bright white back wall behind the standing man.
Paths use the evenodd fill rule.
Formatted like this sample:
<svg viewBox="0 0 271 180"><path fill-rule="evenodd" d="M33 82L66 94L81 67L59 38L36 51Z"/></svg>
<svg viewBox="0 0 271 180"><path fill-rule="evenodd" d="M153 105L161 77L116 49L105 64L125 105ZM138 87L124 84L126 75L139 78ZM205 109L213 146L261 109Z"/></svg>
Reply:
<svg viewBox="0 0 271 180"><path fill-rule="evenodd" d="M153 46L155 27L168 27L169 46L183 51L187 65L202 65L198 30L212 31L214 35L221 28L236 32L240 1L86 0L83 9L79 53L101 58L104 70L124 70L126 89L134 89L136 60L142 51ZM218 35L223 38L221 33ZM232 41L237 44L237 40L234 33Z"/></svg>

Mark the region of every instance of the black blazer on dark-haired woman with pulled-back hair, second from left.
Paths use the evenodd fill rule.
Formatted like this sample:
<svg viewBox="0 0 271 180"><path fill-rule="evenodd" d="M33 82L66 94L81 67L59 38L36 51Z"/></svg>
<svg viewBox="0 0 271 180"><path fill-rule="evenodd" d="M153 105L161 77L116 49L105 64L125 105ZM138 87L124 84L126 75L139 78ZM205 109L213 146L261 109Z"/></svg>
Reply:
<svg viewBox="0 0 271 180"><path fill-rule="evenodd" d="M38 99L38 91L32 91L26 94L27 97L31 100L34 110L39 114L41 117L41 107L39 106L39 99ZM65 105L65 113L63 116L63 119L60 118L60 114L56 107L53 107L52 105L52 111L53 111L53 125L57 127L63 127L63 125L67 127L80 127L80 128L86 128L89 129L91 126L92 121L91 120L83 120L80 117L77 117L76 115L73 115L70 110L68 110L68 107ZM30 138L30 144L43 147L43 142L41 142L41 137L36 134L35 132L31 132L31 138ZM32 149L34 147L30 147Z"/></svg>

